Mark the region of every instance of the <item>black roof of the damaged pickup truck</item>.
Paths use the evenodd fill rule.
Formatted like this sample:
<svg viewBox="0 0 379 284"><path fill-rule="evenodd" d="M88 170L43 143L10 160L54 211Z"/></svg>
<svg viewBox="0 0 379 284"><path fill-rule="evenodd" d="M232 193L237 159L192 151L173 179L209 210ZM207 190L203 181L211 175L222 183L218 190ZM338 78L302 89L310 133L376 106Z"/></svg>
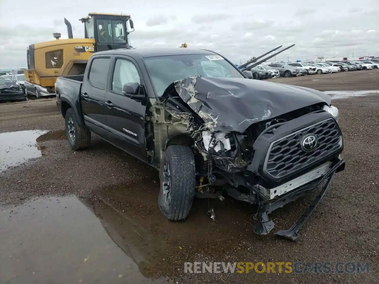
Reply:
<svg viewBox="0 0 379 284"><path fill-rule="evenodd" d="M205 49L192 49L192 48L119 48L113 50L99 51L99 54L120 54L120 55L139 55L141 58L155 57L155 56L168 56L168 55L190 55L190 54L216 54L214 51Z"/></svg>

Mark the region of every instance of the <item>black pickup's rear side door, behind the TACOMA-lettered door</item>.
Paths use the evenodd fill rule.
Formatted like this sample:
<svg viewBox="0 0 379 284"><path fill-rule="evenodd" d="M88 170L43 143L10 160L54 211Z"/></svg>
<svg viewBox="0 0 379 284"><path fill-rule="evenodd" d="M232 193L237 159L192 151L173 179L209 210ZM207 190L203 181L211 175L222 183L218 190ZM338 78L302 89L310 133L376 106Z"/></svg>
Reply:
<svg viewBox="0 0 379 284"><path fill-rule="evenodd" d="M111 56L99 56L90 62L89 72L83 78L80 101L86 125L102 136L106 128L105 92Z"/></svg>

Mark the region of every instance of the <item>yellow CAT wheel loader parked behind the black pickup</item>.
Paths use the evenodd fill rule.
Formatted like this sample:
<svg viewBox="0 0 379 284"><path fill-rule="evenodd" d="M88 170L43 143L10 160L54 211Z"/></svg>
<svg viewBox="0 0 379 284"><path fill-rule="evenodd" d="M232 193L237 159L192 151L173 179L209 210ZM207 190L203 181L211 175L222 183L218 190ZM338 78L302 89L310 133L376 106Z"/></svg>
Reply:
<svg viewBox="0 0 379 284"><path fill-rule="evenodd" d="M94 52L131 48L128 35L134 25L130 15L89 13L79 20L84 23L84 37L74 38L71 24L64 18L68 39L54 33L55 40L28 46L26 81L54 93L56 78L83 74Z"/></svg>

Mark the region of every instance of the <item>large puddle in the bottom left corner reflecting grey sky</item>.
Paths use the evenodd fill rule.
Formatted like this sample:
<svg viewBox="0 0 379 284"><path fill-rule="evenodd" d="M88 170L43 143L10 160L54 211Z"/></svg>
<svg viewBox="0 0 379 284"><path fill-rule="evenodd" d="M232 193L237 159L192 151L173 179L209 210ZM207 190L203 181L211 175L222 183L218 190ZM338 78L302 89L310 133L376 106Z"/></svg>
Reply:
<svg viewBox="0 0 379 284"><path fill-rule="evenodd" d="M106 203L38 199L0 212L0 275L8 283L162 283L146 231ZM30 279L33 279L31 281Z"/></svg>

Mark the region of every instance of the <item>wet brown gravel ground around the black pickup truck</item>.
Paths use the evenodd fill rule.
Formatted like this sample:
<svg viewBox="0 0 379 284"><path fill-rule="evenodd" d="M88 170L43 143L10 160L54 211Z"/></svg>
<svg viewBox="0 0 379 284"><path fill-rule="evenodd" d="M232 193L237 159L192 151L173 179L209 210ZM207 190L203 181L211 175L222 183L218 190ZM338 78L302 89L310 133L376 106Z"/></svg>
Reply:
<svg viewBox="0 0 379 284"><path fill-rule="evenodd" d="M274 81L322 91L379 90L377 70ZM379 96L333 104L341 113L346 170L296 242L255 235L256 208L229 198L210 200L218 223L206 215L207 200L195 200L185 222L169 222L157 207L154 169L95 136L88 150L71 151L53 99L0 104L1 282L376 283ZM271 214L273 231L291 226L313 198ZM370 262L370 271L189 275L185 261L352 261Z"/></svg>

